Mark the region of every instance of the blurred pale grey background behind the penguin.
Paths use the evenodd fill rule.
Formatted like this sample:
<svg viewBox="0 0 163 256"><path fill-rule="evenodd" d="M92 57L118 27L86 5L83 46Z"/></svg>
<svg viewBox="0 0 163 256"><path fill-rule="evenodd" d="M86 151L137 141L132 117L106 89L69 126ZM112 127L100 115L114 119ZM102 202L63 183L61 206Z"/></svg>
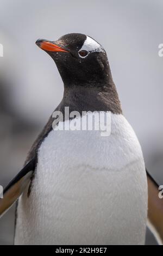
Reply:
<svg viewBox="0 0 163 256"><path fill-rule="evenodd" d="M27 152L61 100L63 85L53 60L35 45L84 33L108 58L123 113L142 145L146 166L163 184L162 0L1 0L0 184L21 169ZM14 207L0 220L0 244L13 240ZM147 231L146 243L156 244Z"/></svg>

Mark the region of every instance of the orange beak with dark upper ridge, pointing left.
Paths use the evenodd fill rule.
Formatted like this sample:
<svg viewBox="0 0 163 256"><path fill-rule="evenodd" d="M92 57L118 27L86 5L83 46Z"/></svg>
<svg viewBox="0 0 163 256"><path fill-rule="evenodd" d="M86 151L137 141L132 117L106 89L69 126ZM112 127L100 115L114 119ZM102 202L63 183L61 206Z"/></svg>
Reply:
<svg viewBox="0 0 163 256"><path fill-rule="evenodd" d="M53 44L53 42L46 41L43 39L37 40L36 45L39 46L42 50L48 51L48 52L68 52L63 48L61 48L60 46Z"/></svg>

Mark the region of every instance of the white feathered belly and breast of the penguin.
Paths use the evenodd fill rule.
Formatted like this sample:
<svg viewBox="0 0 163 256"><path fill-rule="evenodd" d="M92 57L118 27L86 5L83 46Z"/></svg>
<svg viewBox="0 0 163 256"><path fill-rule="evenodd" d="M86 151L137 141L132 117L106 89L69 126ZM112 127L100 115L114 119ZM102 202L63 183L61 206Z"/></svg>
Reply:
<svg viewBox="0 0 163 256"><path fill-rule="evenodd" d="M52 131L42 143L30 197L18 204L15 244L141 245L147 180L142 151L123 115L111 135Z"/></svg>

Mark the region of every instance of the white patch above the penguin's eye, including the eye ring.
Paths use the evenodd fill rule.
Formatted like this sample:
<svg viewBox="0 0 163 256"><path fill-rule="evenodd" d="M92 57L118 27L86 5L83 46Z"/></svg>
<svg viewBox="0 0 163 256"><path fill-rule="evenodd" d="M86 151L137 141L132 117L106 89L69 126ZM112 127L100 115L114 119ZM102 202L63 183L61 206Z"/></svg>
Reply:
<svg viewBox="0 0 163 256"><path fill-rule="evenodd" d="M89 53L91 53L91 52L105 52L104 48L101 45L99 45L98 42L96 42L95 40L90 38L89 36L86 36L86 40L84 41L84 44L83 44L82 48L80 48L79 52L80 51L87 51ZM87 57L87 55L85 57ZM82 57L82 56L80 56L80 57ZM82 58L85 58L85 57L82 57Z"/></svg>

